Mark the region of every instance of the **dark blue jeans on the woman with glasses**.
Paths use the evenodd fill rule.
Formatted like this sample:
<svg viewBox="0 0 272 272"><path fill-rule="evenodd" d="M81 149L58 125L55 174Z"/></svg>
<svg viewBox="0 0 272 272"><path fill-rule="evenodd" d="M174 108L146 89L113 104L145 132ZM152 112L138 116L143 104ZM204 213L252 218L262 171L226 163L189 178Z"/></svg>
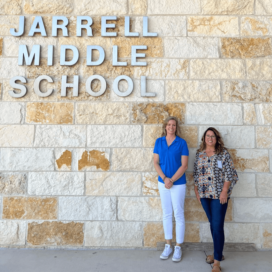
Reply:
<svg viewBox="0 0 272 272"><path fill-rule="evenodd" d="M214 241L214 259L221 261L225 242L224 221L228 201L223 205L220 204L219 199L204 197L200 198L200 201L210 223L212 239Z"/></svg>

